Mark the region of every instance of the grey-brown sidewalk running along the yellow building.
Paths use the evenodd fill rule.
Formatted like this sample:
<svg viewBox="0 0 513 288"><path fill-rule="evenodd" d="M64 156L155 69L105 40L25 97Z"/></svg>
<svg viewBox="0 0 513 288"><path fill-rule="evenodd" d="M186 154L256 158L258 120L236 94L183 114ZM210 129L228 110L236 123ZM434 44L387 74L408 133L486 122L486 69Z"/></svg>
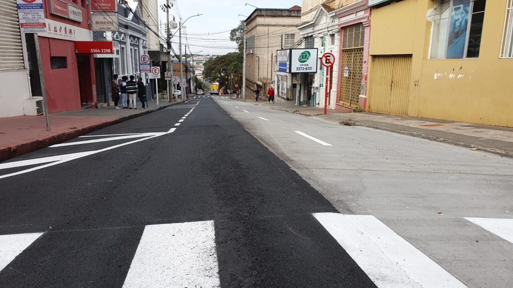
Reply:
<svg viewBox="0 0 513 288"><path fill-rule="evenodd" d="M246 101L257 104L254 99ZM344 110L328 110L328 114L324 115L322 108L296 106L293 101L274 104L259 101L258 105L304 116L317 116L341 125L365 126L513 157L513 128Z"/></svg>

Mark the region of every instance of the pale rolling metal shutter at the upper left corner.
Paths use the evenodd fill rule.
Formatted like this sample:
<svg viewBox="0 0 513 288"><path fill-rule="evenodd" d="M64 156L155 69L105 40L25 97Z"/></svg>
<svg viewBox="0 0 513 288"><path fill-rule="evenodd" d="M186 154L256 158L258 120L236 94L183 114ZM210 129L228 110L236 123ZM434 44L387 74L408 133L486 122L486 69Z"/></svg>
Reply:
<svg viewBox="0 0 513 288"><path fill-rule="evenodd" d="M0 0L0 27L0 71L25 69L16 0Z"/></svg>

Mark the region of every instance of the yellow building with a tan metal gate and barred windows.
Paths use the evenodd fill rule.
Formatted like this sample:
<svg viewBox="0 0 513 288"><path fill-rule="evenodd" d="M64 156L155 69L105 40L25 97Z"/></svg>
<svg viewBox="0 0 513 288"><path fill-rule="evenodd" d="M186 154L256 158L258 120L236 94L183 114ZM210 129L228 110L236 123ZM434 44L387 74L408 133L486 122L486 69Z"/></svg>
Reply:
<svg viewBox="0 0 513 288"><path fill-rule="evenodd" d="M513 127L513 0L369 0L366 110Z"/></svg>

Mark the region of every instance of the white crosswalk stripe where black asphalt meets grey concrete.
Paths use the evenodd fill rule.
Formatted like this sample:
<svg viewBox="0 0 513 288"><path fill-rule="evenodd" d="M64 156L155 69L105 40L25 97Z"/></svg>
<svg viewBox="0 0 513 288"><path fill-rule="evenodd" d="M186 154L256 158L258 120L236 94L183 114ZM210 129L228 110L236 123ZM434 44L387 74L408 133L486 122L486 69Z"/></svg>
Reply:
<svg viewBox="0 0 513 288"><path fill-rule="evenodd" d="M374 216L313 216L379 288L466 288Z"/></svg>

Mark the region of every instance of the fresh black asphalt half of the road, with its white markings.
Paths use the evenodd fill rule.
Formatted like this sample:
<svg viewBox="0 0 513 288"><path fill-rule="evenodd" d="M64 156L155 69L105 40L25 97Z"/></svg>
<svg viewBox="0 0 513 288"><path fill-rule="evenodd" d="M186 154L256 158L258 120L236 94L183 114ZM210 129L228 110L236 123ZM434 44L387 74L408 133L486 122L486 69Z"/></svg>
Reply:
<svg viewBox="0 0 513 288"><path fill-rule="evenodd" d="M0 287L376 287L212 98L86 136L0 164Z"/></svg>

